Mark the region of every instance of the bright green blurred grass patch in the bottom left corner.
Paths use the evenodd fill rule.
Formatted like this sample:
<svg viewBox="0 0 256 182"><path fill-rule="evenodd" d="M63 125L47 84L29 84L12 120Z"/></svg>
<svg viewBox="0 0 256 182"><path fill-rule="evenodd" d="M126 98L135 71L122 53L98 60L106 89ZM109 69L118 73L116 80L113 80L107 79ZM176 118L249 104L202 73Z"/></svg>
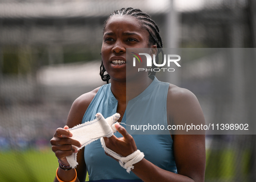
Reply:
<svg viewBox="0 0 256 182"><path fill-rule="evenodd" d="M52 182L58 160L50 150L0 153L1 182Z"/></svg>

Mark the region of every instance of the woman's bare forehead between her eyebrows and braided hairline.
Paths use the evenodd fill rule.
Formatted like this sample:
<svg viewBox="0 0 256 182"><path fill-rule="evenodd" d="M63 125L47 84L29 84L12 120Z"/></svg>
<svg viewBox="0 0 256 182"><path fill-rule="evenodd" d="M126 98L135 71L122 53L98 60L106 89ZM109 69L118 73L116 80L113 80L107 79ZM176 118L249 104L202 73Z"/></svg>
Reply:
<svg viewBox="0 0 256 182"><path fill-rule="evenodd" d="M147 33L147 31L142 28L138 19L133 16L120 15L114 15L108 19L104 33L107 31L136 31L140 33Z"/></svg>

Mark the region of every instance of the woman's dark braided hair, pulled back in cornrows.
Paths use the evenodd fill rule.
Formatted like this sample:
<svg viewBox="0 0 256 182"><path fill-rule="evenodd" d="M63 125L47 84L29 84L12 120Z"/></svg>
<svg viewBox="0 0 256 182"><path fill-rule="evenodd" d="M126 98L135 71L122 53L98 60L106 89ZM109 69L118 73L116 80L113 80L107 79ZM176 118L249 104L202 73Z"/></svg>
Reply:
<svg viewBox="0 0 256 182"><path fill-rule="evenodd" d="M104 32L105 27L107 25L107 21L110 19L110 17L112 17L114 15L135 17L136 19L139 20L142 27L145 28L149 32L149 46L156 44L157 48L162 48L163 47L162 38L159 34L158 26L150 18L150 16L147 13L143 13L140 9L134 9L134 8L129 7L129 8L121 8L119 10L115 10L105 20L103 32ZM160 53L163 54L162 49L160 49ZM164 57L162 56L162 63L163 63L163 60L164 60ZM158 63L158 62L159 62L159 52L157 52L157 54L156 54L156 63ZM151 69L154 69L154 68L157 68L157 66L155 66L153 64ZM101 60L100 77L104 82L108 83L108 81L110 79L110 75L108 75L108 74L104 75L105 71L106 71L106 69L104 68L103 61ZM149 71L149 75L156 75L156 72Z"/></svg>

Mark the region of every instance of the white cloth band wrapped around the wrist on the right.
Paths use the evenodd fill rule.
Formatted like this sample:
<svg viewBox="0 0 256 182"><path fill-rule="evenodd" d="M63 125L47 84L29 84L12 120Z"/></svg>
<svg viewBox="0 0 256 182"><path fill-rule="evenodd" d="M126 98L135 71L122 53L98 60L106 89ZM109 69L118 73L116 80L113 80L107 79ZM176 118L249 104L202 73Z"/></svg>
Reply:
<svg viewBox="0 0 256 182"><path fill-rule="evenodd" d="M130 173L130 171L132 169L134 169L133 164L138 163L139 161L141 161L144 158L143 152L141 152L139 150L136 150L135 152L133 152L132 154L130 154L126 157L122 157L120 154L117 154L115 151L112 151L106 147L104 138L100 138L100 142L101 142L102 147L104 148L104 151L106 151L107 154L110 154L111 156L113 156L114 158L119 160L120 166L122 166L124 169L126 169L127 173Z"/></svg>

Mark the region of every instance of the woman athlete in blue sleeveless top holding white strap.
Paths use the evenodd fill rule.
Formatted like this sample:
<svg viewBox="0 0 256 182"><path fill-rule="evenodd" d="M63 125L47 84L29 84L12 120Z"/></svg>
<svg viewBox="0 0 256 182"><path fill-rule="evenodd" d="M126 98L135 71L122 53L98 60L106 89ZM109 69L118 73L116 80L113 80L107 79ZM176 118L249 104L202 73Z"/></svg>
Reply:
<svg viewBox="0 0 256 182"><path fill-rule="evenodd" d="M51 140L52 151L60 163L55 182L84 182L87 169L90 181L114 182L116 179L122 179L119 182L204 182L205 135L131 136L126 135L123 126L115 124L118 132L110 138L104 138L106 146L123 157L132 154L137 147L145 154L142 160L133 165L134 169L130 174L126 173L117 161L104 154L99 140L85 146L79 152L72 147L81 147L81 144L69 138L72 134L67 129L89 121L88 118L94 118L94 111L101 113L116 104L109 116L117 112L120 113L118 121L125 120L123 116L126 111L126 48L143 47L152 48L152 51L162 47L159 28L155 22L139 9L122 8L114 11L104 23L100 66L101 78L107 82L110 79L111 83L78 97L71 106L67 126L56 130ZM120 60L120 63L116 63L116 60ZM107 75L104 75L105 71ZM139 89L134 90L128 100L141 96L150 87L160 85L160 88L165 87L159 90L166 92L166 97L158 96L158 99L155 99L156 103L153 104L157 104L158 100L165 101L163 118L167 121L164 122L204 123L198 100L190 91L172 84L162 84L152 76L149 78L147 72L139 77L136 73L130 74L130 77L131 80L136 78L135 84L139 85L136 88ZM97 109L100 108L95 105L97 102L101 103L104 109ZM112 105L107 105L109 102L113 102ZM73 152L78 152L76 169L72 169L65 158Z"/></svg>

